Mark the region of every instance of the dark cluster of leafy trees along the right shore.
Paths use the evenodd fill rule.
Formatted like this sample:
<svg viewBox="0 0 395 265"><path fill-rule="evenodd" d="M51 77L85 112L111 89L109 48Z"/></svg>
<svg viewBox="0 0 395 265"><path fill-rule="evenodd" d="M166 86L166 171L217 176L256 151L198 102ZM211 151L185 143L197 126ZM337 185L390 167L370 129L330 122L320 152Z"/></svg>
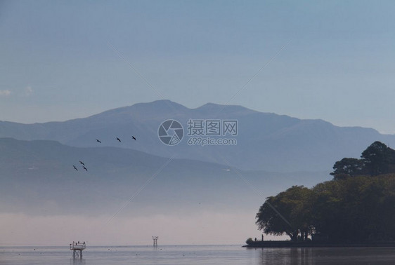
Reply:
<svg viewBox="0 0 395 265"><path fill-rule="evenodd" d="M257 225L291 240L364 242L395 240L395 151L374 142L361 159L343 158L332 181L266 198Z"/></svg>

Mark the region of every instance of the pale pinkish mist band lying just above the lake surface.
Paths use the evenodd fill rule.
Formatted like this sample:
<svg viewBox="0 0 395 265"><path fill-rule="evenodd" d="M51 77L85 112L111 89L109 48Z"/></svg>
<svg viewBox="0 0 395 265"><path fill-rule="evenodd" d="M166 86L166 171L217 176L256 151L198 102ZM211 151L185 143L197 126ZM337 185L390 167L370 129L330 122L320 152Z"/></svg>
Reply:
<svg viewBox="0 0 395 265"><path fill-rule="evenodd" d="M196 212L188 216L181 213L141 217L120 215L110 222L110 215L1 214L0 226L7 229L1 233L0 244L67 246L72 241L79 240L86 241L88 245L151 245L152 236L159 236L158 242L161 245L240 245L249 236L260 238L261 233L251 218L252 214L253 212Z"/></svg>

